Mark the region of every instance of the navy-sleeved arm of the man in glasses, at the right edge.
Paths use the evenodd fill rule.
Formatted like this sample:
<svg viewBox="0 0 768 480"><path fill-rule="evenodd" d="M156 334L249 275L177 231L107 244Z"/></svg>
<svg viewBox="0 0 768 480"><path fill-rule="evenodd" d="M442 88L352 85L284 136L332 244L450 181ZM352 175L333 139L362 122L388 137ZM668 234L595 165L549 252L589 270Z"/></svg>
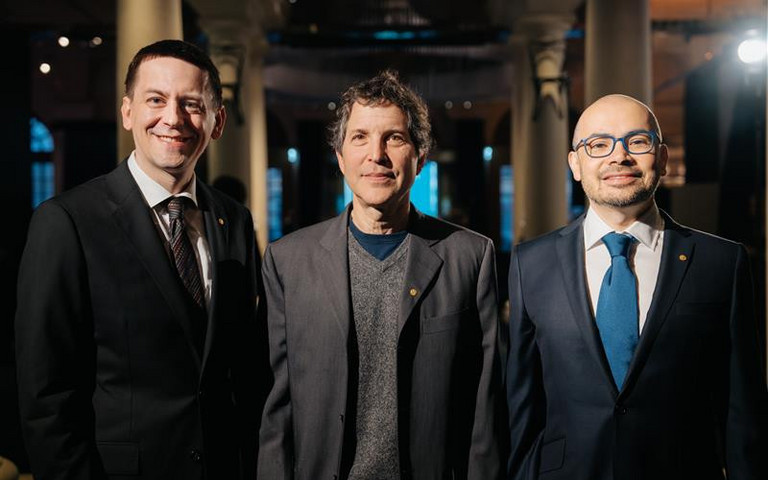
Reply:
<svg viewBox="0 0 768 480"><path fill-rule="evenodd" d="M753 312L752 280L747 253L740 247L731 300L731 351L726 415L728 478L768 478L768 394Z"/></svg>

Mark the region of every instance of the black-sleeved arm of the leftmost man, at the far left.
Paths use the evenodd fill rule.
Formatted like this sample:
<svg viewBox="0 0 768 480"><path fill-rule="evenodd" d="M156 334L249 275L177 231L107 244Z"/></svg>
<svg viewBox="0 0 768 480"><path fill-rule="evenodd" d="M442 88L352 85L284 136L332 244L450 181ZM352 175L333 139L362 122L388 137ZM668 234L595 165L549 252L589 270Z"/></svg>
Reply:
<svg viewBox="0 0 768 480"><path fill-rule="evenodd" d="M19 270L16 364L35 478L103 477L91 398L95 344L85 259L69 214L35 212Z"/></svg>

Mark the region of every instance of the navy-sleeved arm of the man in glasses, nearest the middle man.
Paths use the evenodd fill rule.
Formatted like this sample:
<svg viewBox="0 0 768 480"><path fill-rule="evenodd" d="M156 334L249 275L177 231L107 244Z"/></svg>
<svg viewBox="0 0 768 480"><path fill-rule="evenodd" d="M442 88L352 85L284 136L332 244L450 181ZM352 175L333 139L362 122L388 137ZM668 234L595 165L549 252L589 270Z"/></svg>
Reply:
<svg viewBox="0 0 768 480"><path fill-rule="evenodd" d="M545 406L541 359L536 328L523 300L517 250L509 267L509 354L507 356L507 402L510 429L510 480L538 476L534 451L544 429Z"/></svg>

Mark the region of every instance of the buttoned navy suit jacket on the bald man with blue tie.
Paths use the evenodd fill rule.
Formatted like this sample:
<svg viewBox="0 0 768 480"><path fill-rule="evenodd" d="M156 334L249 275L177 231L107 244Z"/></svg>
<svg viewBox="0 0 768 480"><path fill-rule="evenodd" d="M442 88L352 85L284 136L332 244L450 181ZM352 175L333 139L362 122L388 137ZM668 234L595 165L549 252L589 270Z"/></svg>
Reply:
<svg viewBox="0 0 768 480"><path fill-rule="evenodd" d="M656 290L618 391L587 297L582 221L512 258L510 478L768 478L744 248L665 215Z"/></svg>

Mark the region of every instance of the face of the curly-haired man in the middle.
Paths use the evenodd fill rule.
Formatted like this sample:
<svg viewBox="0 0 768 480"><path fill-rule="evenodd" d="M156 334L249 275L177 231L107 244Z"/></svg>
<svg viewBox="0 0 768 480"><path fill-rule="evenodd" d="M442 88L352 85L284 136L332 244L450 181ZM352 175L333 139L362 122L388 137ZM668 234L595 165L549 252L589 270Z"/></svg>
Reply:
<svg viewBox="0 0 768 480"><path fill-rule="evenodd" d="M391 103L355 103L336 158L358 211L369 207L385 213L402 211L424 165L408 133L405 114Z"/></svg>

